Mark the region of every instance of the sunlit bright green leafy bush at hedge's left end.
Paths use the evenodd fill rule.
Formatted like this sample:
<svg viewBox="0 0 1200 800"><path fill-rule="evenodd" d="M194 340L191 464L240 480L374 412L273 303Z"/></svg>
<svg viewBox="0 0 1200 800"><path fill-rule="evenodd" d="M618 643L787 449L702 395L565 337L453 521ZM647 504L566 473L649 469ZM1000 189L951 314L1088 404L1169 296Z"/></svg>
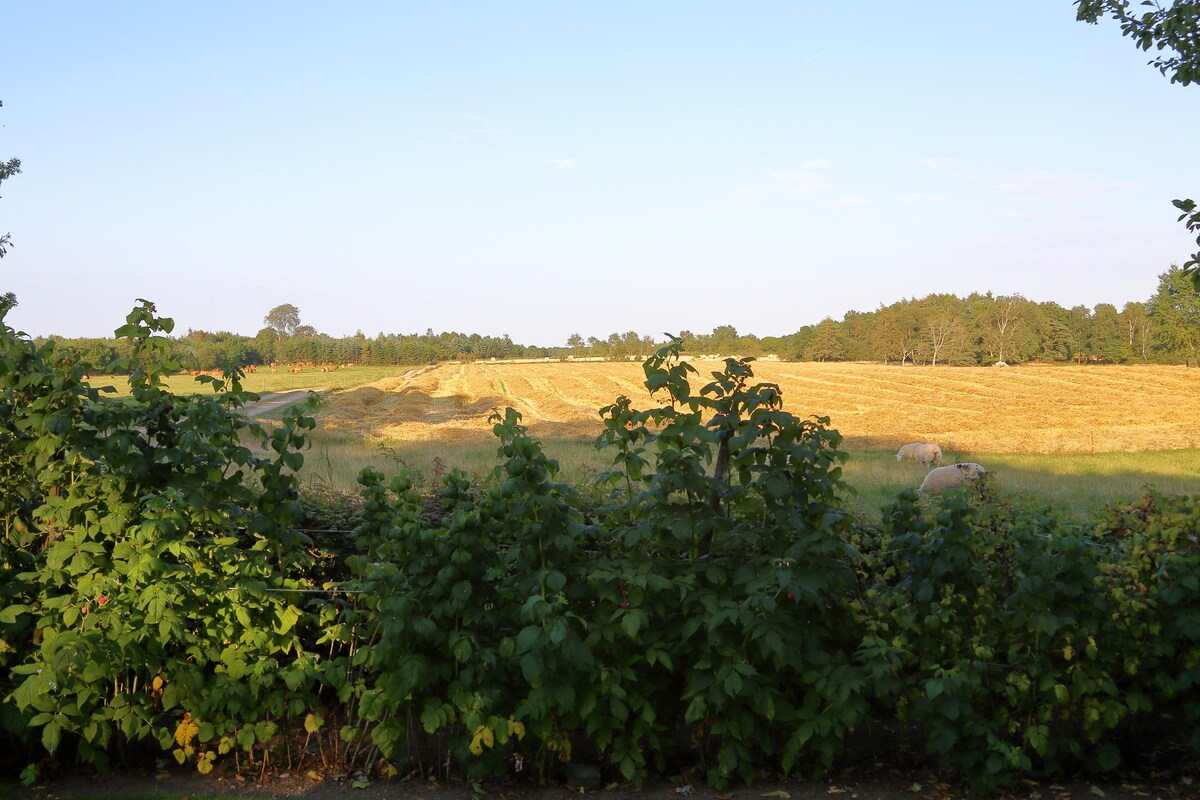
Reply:
<svg viewBox="0 0 1200 800"><path fill-rule="evenodd" d="M292 470L312 420L295 413L269 435L250 425L241 407L256 397L236 371L210 379L211 396L170 395L157 354L172 321L146 301L126 321L130 402L53 343L0 337L4 721L50 754L68 739L104 765L157 740L205 771L313 702L287 679L306 660ZM203 721L197 735L185 718Z"/></svg>

